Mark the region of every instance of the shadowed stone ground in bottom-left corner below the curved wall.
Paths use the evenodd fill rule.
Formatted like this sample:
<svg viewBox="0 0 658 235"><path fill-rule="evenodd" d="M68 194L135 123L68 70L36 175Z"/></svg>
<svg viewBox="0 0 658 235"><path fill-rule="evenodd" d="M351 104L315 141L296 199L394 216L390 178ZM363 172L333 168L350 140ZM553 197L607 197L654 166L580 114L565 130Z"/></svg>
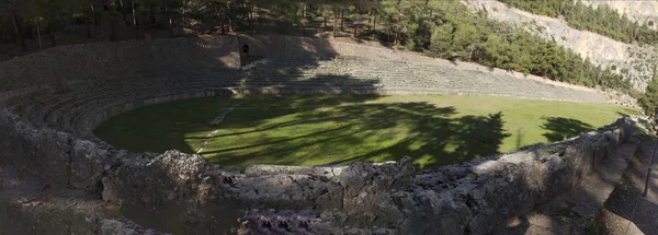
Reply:
<svg viewBox="0 0 658 235"><path fill-rule="evenodd" d="M0 234L161 234L123 220L94 195L0 164Z"/></svg>

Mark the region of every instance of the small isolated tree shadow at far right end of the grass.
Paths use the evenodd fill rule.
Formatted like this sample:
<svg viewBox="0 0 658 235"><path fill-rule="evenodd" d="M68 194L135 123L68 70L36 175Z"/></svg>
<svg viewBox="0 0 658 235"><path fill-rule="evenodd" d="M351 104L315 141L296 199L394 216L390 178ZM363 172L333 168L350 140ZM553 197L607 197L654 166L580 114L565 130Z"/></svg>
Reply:
<svg viewBox="0 0 658 235"><path fill-rule="evenodd" d="M591 125L574 118L543 117L542 119L546 120L542 128L549 131L543 136L551 142L563 141L594 129Z"/></svg>

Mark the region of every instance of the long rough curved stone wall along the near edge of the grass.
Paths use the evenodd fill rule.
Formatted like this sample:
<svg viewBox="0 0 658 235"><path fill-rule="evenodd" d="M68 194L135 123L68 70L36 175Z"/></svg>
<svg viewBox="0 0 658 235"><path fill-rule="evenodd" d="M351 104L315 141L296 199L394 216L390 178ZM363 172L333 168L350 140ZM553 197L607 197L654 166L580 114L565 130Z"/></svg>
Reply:
<svg viewBox="0 0 658 235"><path fill-rule="evenodd" d="M0 155L3 161L56 184L98 193L103 201L157 209L201 204L203 210L189 212L194 220L169 221L180 224L179 232L219 233L237 226L232 221L247 212L243 220L250 225L242 230L275 233L288 225L263 226L271 223L263 221L282 220L280 215L249 212L274 210L284 215L306 211L295 218L308 224L288 228L314 233L384 227L390 233L490 234L511 218L578 186L597 163L631 138L634 128L629 119L620 119L567 141L421 173L408 161L222 168L195 154L131 153L35 129L7 110L0 111L0 131L4 133L0 148L8 150ZM144 210L143 216L156 213ZM222 219L214 218L218 214Z"/></svg>

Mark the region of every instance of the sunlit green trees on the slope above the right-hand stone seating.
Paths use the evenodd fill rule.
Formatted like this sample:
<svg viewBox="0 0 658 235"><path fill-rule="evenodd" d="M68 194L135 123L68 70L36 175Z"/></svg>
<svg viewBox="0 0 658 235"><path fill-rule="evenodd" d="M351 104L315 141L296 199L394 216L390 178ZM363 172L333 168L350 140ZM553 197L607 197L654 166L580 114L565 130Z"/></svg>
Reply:
<svg viewBox="0 0 658 235"><path fill-rule="evenodd" d="M384 1L385 9L407 19L396 37L409 49L430 56L461 58L489 67L547 77L572 84L627 90L627 82L594 67L572 50L521 28L473 14L457 1ZM394 10L392 10L394 9Z"/></svg>

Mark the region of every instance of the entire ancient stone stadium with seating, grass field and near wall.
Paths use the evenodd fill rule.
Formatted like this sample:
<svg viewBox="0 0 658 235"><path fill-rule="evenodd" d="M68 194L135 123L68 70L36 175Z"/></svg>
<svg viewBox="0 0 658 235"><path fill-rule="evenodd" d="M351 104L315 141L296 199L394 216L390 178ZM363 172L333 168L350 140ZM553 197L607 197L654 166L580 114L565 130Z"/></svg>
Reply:
<svg viewBox="0 0 658 235"><path fill-rule="evenodd" d="M595 90L456 67L290 36L70 45L0 63L0 233L514 234L565 207L583 215L561 223L585 231L605 181L649 150L639 119L615 120L637 111ZM599 119L489 111L496 101ZM546 131L510 131L506 117Z"/></svg>

